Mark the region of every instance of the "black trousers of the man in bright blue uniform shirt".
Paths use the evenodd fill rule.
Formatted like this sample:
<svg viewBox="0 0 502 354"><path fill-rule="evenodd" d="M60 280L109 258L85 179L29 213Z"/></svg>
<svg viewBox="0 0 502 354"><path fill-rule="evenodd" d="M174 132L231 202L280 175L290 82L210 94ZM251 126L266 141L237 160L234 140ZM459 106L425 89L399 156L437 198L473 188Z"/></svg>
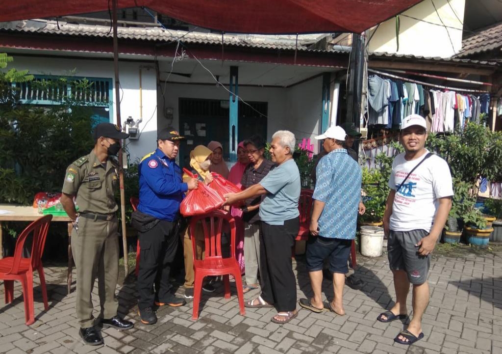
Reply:
<svg viewBox="0 0 502 354"><path fill-rule="evenodd" d="M171 263L178 248L178 222L161 220L152 229L140 232L140 271L138 273L138 307L144 309L168 302L172 294L169 283ZM157 280L157 281L156 281ZM154 293L154 282L156 293Z"/></svg>

